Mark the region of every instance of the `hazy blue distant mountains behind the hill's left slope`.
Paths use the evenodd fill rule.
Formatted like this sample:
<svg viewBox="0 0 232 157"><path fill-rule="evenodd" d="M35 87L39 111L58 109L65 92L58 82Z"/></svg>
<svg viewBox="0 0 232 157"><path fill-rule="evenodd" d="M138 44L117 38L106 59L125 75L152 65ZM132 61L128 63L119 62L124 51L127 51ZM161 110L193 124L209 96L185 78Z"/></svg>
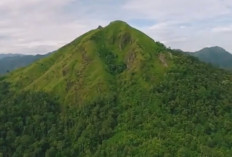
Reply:
<svg viewBox="0 0 232 157"><path fill-rule="evenodd" d="M27 66L46 55L0 54L0 74Z"/></svg>

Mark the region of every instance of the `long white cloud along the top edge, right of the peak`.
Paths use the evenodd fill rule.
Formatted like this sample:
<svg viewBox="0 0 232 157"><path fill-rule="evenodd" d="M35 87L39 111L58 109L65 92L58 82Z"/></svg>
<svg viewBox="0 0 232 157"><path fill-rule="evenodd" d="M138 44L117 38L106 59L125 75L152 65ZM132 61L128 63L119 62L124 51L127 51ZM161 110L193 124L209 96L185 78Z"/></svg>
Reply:
<svg viewBox="0 0 232 157"><path fill-rule="evenodd" d="M158 21L192 21L231 13L221 0L129 0L124 8ZM227 3L226 3L227 2Z"/></svg>

